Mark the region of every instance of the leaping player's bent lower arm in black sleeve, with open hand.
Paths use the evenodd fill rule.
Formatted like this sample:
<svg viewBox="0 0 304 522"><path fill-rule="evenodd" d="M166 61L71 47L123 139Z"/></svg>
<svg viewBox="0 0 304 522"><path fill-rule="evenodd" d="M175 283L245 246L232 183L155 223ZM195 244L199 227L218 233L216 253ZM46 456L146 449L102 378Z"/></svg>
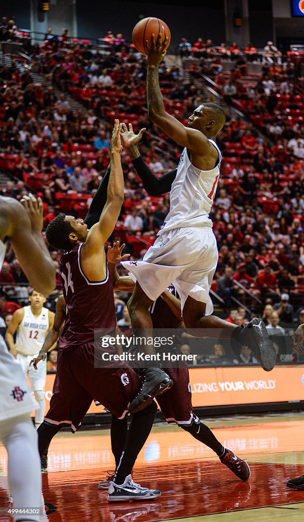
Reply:
<svg viewBox="0 0 304 522"><path fill-rule="evenodd" d="M157 177L149 169L140 155L137 144L139 143L145 129L141 129L138 134L133 131L132 124L129 123L129 130L125 123L121 129L121 143L127 149L132 163L139 175L143 188L150 196L161 196L171 191L172 183L175 180L177 169L166 172L163 176Z"/></svg>

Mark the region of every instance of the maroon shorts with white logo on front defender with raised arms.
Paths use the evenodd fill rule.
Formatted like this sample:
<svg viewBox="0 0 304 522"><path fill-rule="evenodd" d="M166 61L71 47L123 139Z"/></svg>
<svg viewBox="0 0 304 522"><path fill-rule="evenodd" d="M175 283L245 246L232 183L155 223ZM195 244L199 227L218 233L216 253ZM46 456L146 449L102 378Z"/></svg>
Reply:
<svg viewBox="0 0 304 522"><path fill-rule="evenodd" d="M126 365L121 369L95 368L94 342L68 351L59 350L53 395L45 421L70 424L75 432L93 399L122 419L140 386L135 371Z"/></svg>

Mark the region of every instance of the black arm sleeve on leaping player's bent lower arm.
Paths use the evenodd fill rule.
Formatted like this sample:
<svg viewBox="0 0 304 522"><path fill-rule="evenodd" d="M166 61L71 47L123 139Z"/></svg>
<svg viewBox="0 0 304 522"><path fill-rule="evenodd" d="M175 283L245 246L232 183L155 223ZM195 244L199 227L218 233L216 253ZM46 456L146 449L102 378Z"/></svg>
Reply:
<svg viewBox="0 0 304 522"><path fill-rule="evenodd" d="M157 177L153 174L152 170L149 169L141 156L132 160L132 163L142 181L143 188L150 196L161 196L171 191L177 169L166 172L162 177Z"/></svg>

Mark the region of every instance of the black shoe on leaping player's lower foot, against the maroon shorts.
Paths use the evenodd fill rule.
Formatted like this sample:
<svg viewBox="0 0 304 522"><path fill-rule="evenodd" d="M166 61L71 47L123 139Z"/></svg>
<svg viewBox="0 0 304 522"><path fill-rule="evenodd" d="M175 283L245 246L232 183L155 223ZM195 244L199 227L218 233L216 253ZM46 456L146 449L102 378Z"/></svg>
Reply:
<svg viewBox="0 0 304 522"><path fill-rule="evenodd" d="M172 379L161 368L144 368L141 375L143 384L129 406L130 413L143 410L151 404L153 397L173 386Z"/></svg>

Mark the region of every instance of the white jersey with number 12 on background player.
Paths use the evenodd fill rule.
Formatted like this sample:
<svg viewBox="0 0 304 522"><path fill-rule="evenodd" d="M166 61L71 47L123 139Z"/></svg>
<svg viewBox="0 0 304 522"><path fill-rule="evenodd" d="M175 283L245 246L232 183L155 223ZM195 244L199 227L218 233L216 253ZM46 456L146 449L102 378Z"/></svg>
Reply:
<svg viewBox="0 0 304 522"><path fill-rule="evenodd" d="M25 315L17 329L16 350L22 355L35 355L40 352L50 327L48 310L42 308L38 317L30 306L25 306L24 311Z"/></svg>

